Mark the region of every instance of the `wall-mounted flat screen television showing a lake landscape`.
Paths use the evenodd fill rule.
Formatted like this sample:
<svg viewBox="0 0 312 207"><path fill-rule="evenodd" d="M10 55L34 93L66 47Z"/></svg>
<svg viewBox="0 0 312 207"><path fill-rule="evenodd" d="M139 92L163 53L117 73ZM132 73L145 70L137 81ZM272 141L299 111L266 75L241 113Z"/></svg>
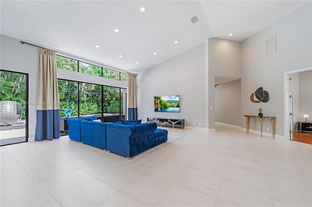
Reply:
<svg viewBox="0 0 312 207"><path fill-rule="evenodd" d="M154 96L156 112L180 112L180 96Z"/></svg>

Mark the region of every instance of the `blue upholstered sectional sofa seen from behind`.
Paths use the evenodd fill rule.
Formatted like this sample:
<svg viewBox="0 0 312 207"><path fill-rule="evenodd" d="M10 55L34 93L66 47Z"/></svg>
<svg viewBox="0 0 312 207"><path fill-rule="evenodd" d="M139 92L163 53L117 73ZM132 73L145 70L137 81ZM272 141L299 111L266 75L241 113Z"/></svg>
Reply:
<svg viewBox="0 0 312 207"><path fill-rule="evenodd" d="M95 118L96 119L96 118ZM131 158L167 141L168 131L141 121L104 123L94 118L68 119L69 138Z"/></svg>

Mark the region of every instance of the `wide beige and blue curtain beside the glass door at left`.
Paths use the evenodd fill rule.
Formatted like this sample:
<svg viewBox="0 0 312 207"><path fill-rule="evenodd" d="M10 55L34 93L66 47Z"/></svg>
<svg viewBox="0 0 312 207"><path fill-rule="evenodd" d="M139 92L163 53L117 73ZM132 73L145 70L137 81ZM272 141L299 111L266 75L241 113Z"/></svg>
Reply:
<svg viewBox="0 0 312 207"><path fill-rule="evenodd" d="M59 138L56 52L39 48L36 141Z"/></svg>

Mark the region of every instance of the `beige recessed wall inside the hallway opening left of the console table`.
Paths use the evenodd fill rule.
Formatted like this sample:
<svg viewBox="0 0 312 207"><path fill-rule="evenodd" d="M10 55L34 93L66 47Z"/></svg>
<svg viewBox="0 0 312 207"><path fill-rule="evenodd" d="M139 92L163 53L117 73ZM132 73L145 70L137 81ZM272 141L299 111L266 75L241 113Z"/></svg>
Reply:
<svg viewBox="0 0 312 207"><path fill-rule="evenodd" d="M241 126L240 80L215 86L215 121Z"/></svg>

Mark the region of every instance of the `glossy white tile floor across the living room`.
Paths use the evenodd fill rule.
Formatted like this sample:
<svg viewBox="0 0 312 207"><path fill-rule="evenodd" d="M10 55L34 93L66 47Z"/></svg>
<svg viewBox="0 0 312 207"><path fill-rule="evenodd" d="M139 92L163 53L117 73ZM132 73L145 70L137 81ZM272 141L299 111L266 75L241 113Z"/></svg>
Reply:
<svg viewBox="0 0 312 207"><path fill-rule="evenodd" d="M183 132L131 160L68 137L2 146L0 206L312 206L312 145Z"/></svg>

